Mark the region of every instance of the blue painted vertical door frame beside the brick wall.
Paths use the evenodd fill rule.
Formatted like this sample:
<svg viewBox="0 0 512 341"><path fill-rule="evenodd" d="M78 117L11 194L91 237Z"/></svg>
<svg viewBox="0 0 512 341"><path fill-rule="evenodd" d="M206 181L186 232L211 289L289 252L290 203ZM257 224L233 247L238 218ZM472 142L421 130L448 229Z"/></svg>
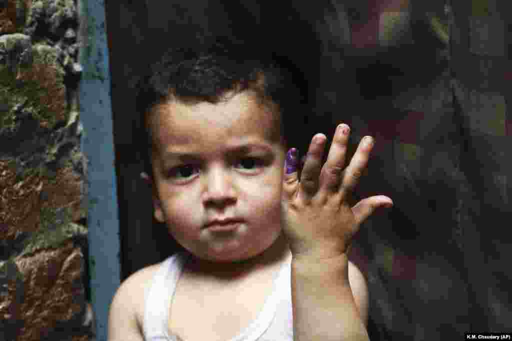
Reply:
<svg viewBox="0 0 512 341"><path fill-rule="evenodd" d="M81 150L87 157L89 267L96 341L106 341L109 307L121 277L119 213L105 4L80 0Z"/></svg>

